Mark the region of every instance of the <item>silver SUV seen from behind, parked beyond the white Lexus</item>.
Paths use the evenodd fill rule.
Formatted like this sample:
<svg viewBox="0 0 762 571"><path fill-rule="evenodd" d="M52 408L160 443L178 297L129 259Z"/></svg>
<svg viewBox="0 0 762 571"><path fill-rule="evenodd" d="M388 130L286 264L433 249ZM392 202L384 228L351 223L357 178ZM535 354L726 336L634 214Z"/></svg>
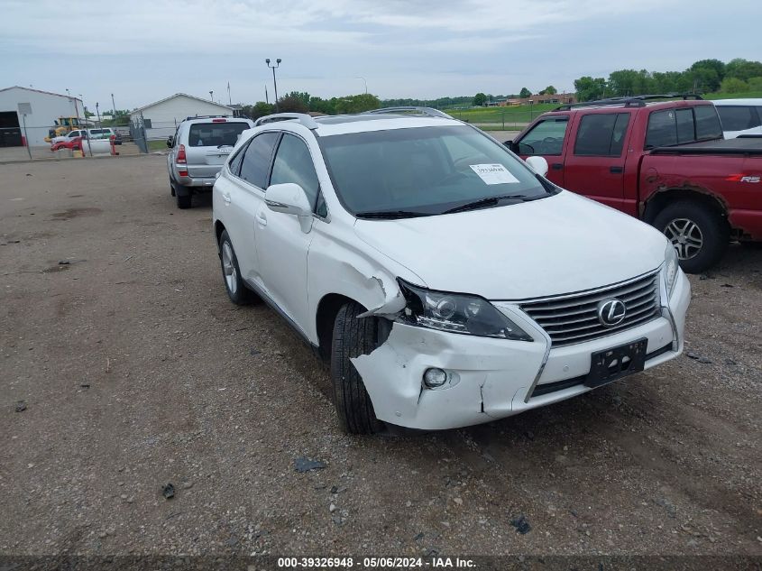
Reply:
<svg viewBox="0 0 762 571"><path fill-rule="evenodd" d="M227 115L188 117L167 139L170 190L179 208L189 208L194 193L208 192L233 151L238 137L254 126L249 119Z"/></svg>

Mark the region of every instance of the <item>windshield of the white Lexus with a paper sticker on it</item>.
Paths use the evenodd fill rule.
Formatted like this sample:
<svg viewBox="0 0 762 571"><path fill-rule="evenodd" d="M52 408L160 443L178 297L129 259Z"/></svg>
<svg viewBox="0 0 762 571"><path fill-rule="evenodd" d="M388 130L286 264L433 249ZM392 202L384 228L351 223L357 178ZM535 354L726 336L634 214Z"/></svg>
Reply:
<svg viewBox="0 0 762 571"><path fill-rule="evenodd" d="M339 199L354 216L444 214L555 192L502 145L466 125L318 137ZM508 203L506 203L508 204Z"/></svg>

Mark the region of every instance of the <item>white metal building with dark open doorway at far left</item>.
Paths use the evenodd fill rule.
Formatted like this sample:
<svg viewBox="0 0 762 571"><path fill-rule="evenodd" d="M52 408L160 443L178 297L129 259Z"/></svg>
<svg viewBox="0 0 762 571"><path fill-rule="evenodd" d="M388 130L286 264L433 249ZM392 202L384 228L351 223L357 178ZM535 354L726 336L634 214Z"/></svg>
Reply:
<svg viewBox="0 0 762 571"><path fill-rule="evenodd" d="M21 104L21 112L19 105ZM26 105L23 105L26 104ZM28 111L26 117L23 111ZM49 91L30 87L5 87L0 89L0 147L23 145L23 124L30 145L42 146L48 131L59 117L83 117L82 101Z"/></svg>

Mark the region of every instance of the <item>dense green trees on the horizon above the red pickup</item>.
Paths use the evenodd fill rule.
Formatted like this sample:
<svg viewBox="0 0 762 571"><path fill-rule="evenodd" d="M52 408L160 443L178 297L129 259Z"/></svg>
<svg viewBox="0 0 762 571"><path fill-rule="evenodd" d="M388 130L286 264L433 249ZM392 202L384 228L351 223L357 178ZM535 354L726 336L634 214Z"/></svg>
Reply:
<svg viewBox="0 0 762 571"><path fill-rule="evenodd" d="M577 99L666 93L743 93L762 90L762 62L736 59L699 60L684 71L619 69L609 78L583 76L574 80Z"/></svg>

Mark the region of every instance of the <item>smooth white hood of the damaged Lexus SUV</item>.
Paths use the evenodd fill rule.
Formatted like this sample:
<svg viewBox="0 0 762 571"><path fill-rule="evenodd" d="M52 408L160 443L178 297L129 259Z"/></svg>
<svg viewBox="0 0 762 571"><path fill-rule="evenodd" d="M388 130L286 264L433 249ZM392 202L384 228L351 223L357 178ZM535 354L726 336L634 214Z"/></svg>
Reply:
<svg viewBox="0 0 762 571"><path fill-rule="evenodd" d="M432 290L528 299L589 290L655 270L666 238L610 207L564 191L505 207L363 220L355 234Z"/></svg>

